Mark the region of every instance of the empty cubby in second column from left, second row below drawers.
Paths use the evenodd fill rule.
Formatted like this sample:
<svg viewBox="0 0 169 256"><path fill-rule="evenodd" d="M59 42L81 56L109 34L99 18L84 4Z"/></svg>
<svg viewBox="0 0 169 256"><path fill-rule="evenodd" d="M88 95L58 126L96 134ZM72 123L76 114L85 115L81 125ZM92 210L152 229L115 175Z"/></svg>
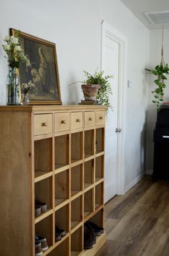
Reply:
<svg viewBox="0 0 169 256"><path fill-rule="evenodd" d="M54 175L55 206L69 198L69 169Z"/></svg>

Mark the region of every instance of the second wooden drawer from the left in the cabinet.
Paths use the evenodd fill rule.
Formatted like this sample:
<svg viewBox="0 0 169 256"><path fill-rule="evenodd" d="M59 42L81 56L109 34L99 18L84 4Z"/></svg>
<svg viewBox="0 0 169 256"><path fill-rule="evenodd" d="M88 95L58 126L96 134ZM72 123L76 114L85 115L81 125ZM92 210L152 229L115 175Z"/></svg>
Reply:
<svg viewBox="0 0 169 256"><path fill-rule="evenodd" d="M69 129L69 113L55 114L55 132L67 131Z"/></svg>

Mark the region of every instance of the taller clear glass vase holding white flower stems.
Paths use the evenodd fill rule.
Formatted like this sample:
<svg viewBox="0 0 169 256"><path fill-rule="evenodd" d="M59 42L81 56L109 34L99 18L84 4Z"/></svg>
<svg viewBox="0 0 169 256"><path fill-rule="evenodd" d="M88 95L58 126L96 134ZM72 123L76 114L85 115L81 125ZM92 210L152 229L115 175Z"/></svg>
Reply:
<svg viewBox="0 0 169 256"><path fill-rule="evenodd" d="M17 68L9 68L6 94L7 94L8 105L20 104L20 88L19 88L19 76L17 73Z"/></svg>

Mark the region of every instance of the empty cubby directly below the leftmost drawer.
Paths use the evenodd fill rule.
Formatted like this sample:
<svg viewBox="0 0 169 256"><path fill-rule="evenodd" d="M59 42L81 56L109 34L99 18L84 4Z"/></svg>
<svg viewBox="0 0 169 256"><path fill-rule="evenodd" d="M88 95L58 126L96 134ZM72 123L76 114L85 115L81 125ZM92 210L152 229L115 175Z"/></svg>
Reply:
<svg viewBox="0 0 169 256"><path fill-rule="evenodd" d="M52 171L52 138L34 142L34 178Z"/></svg>

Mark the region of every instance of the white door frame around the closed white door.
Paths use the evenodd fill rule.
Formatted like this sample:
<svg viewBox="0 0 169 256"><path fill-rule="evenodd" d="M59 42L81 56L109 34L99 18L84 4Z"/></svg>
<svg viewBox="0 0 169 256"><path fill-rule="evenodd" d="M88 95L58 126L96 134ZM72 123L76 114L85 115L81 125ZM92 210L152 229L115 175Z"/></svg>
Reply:
<svg viewBox="0 0 169 256"><path fill-rule="evenodd" d="M117 109L117 127L122 129L117 133L117 195L125 194L125 95L127 88L126 70L127 70L127 38L122 35L110 24L102 21L102 42L101 42L101 70L105 70L105 39L119 44L119 84L118 84L118 109Z"/></svg>

